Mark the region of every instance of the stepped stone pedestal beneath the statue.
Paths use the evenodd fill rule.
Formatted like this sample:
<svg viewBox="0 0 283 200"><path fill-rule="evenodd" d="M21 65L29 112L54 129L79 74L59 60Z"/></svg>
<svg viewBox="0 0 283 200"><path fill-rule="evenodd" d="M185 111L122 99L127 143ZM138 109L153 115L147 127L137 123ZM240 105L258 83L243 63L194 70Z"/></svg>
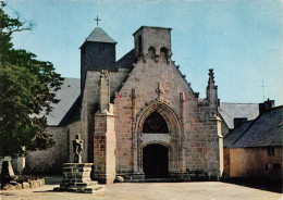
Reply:
<svg viewBox="0 0 283 200"><path fill-rule="evenodd" d="M90 179L93 165L94 163L64 163L63 182L53 190L93 193L95 190L101 189L102 186Z"/></svg>

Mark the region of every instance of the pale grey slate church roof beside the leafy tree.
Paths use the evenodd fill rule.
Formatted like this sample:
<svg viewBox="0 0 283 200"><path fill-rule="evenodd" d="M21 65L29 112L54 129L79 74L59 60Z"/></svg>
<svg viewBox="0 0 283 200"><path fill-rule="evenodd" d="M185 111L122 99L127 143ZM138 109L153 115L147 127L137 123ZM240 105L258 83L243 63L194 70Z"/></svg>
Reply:
<svg viewBox="0 0 283 200"><path fill-rule="evenodd" d="M60 102L51 104L53 110L47 115L47 124L49 126L59 126L66 120L66 115L71 112L72 107L78 100L81 93L79 78L65 78L61 89L57 91L57 99Z"/></svg>

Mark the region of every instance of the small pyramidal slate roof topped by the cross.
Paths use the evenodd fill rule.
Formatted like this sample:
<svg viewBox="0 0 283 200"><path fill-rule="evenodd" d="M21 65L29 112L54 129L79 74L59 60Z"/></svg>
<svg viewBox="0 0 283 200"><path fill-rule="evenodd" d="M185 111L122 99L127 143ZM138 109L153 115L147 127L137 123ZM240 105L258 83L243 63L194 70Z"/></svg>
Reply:
<svg viewBox="0 0 283 200"><path fill-rule="evenodd" d="M86 38L86 41L94 42L103 42L103 43L116 43L102 28L97 26L90 35ZM85 42L81 46L81 48L85 45Z"/></svg>

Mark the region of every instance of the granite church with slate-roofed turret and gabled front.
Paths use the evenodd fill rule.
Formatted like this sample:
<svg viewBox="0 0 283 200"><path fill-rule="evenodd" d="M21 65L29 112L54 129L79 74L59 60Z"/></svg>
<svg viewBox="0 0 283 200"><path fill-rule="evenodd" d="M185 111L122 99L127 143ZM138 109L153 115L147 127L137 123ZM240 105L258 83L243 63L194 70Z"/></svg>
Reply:
<svg viewBox="0 0 283 200"><path fill-rule="evenodd" d="M134 49L116 61L116 41L95 27L79 48L81 79L65 78L61 102L47 116L57 142L28 152L26 168L60 173L73 162L72 140L81 134L83 162L94 163L99 183L116 176L218 180L223 136L213 70L200 99L171 60L171 30L142 26L133 34Z"/></svg>

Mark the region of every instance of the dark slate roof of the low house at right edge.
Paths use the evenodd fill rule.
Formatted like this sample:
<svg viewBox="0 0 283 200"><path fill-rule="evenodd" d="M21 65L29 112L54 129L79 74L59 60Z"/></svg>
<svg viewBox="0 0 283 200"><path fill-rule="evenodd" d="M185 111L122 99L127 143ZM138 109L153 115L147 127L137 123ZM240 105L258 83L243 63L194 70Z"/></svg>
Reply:
<svg viewBox="0 0 283 200"><path fill-rule="evenodd" d="M224 138L227 148L276 147L283 141L283 105L267 110Z"/></svg>

